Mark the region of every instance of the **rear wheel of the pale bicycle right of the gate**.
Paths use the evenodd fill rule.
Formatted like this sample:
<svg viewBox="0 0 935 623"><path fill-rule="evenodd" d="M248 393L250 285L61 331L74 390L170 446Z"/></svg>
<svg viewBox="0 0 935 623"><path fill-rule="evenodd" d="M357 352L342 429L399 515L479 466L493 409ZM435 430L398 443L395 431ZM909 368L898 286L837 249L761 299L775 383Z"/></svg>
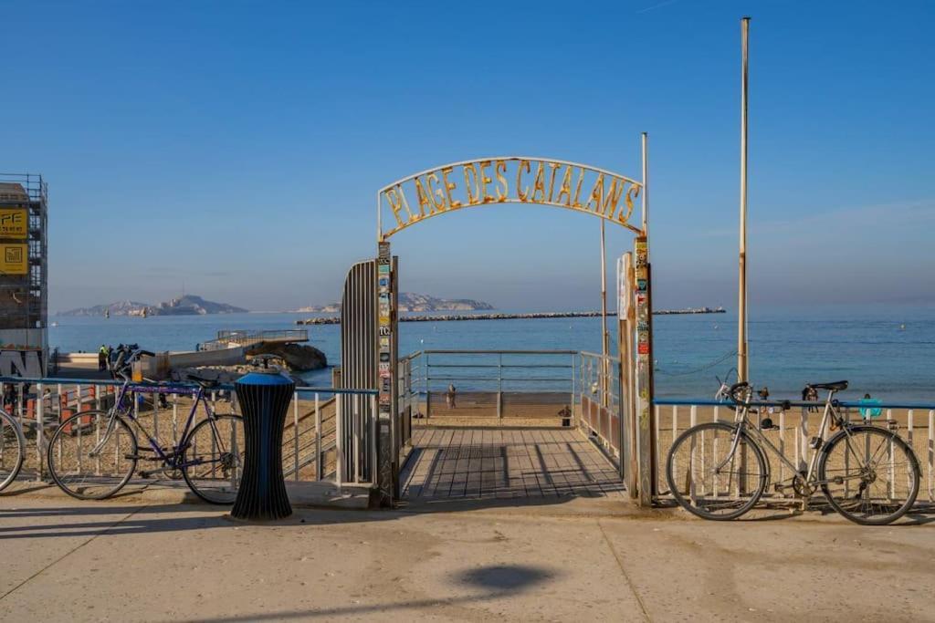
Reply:
<svg viewBox="0 0 935 623"><path fill-rule="evenodd" d="M855 523L883 526L905 515L919 492L919 461L895 432L853 426L828 440L818 478L828 503Z"/></svg>

